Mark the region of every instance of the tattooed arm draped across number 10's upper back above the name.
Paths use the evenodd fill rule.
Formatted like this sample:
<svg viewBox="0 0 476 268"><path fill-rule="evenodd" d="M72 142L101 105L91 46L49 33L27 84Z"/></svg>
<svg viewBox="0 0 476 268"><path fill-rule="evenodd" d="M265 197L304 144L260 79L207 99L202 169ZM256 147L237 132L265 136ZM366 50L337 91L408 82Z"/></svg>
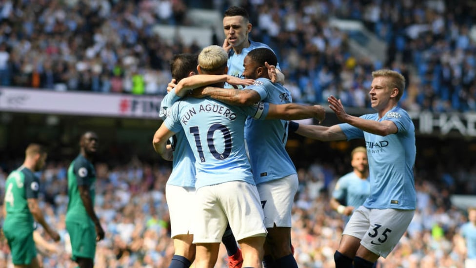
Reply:
<svg viewBox="0 0 476 268"><path fill-rule="evenodd" d="M235 106L250 106L261 100L258 92L252 89L241 90L207 86L201 90L201 94Z"/></svg>

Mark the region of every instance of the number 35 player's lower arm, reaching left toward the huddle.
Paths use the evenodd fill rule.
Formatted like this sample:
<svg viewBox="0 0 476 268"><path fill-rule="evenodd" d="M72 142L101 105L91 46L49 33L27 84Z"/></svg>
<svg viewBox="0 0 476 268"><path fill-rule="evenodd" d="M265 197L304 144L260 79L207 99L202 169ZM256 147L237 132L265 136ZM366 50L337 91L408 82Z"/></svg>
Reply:
<svg viewBox="0 0 476 268"><path fill-rule="evenodd" d="M344 132L337 124L333 126L299 124L296 133L323 142L347 139L347 136L345 136Z"/></svg>

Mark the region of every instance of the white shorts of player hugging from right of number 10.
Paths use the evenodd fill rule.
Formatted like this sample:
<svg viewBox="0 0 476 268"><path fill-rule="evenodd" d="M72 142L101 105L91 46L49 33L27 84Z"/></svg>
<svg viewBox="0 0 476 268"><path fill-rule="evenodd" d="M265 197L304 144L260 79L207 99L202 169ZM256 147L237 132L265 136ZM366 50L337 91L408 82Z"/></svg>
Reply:
<svg viewBox="0 0 476 268"><path fill-rule="evenodd" d="M265 226L291 227L291 210L298 191L298 176L292 174L259 184L257 187L264 211Z"/></svg>

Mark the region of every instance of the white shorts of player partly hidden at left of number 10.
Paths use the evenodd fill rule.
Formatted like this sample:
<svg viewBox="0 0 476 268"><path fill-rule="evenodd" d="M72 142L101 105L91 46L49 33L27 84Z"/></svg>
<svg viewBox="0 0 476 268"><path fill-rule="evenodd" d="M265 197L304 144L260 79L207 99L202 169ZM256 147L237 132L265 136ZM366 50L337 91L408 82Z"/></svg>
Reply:
<svg viewBox="0 0 476 268"><path fill-rule="evenodd" d="M167 185L165 197L169 207L171 237L190 234L195 205L195 188Z"/></svg>

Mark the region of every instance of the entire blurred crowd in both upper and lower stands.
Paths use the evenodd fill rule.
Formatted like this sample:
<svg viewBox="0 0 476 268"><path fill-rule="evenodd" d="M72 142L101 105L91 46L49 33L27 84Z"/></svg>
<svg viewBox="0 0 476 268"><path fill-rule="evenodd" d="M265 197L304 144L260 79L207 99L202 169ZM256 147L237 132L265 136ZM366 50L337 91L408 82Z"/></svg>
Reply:
<svg viewBox="0 0 476 268"><path fill-rule="evenodd" d="M368 107L371 70L390 66L410 80L402 100L408 110L476 110L475 43L469 31L471 12L461 11L464 3L449 10L443 0L264 2L242 3L255 26L252 39L275 49L295 101L321 103L333 94L346 106ZM179 40L161 40L152 31L156 23L187 25L187 1L0 3L1 86L165 94L172 56L200 50ZM227 4L216 1L220 11ZM365 21L388 43L387 61L353 58L346 33L328 25L330 15ZM416 81L410 79L413 68ZM418 209L397 249L379 260L385 268L462 267L464 254L456 240L466 216L449 197L475 194L476 183L467 178L476 178L476 171L454 159L438 161L418 163ZM45 267L74 267L64 226L68 164L52 162L41 173L41 204L62 237L55 252L43 250ZM299 168L292 229L299 267L334 267L345 219L330 208L329 191L347 166L345 161L317 161ZM434 166L438 168L425 168ZM6 171L15 166L2 167L0 187ZM174 252L164 195L169 165L134 158L128 165L97 163L96 170L96 206L106 231L106 239L98 244L96 267L167 267ZM8 267L8 253L1 240L0 267ZM223 265L220 258L217 266Z"/></svg>

